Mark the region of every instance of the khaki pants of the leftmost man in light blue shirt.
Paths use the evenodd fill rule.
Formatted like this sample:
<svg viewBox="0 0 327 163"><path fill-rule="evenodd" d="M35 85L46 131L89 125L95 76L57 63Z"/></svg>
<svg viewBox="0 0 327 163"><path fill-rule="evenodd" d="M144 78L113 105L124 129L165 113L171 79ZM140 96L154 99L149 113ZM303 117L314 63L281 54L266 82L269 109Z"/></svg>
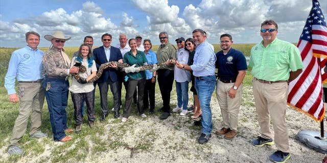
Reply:
<svg viewBox="0 0 327 163"><path fill-rule="evenodd" d="M40 129L44 102L44 89L42 83L19 83L19 115L15 121L12 138L9 147L18 146L18 142L24 135L31 112L31 129L30 135Z"/></svg>

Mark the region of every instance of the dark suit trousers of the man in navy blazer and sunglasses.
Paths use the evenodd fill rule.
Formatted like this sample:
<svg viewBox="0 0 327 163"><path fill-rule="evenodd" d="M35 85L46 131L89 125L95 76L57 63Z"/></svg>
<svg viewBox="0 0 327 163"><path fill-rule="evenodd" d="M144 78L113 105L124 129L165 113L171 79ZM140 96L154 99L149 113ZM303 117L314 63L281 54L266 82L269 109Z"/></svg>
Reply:
<svg viewBox="0 0 327 163"><path fill-rule="evenodd" d="M107 80L107 82L101 82L98 83L99 90L100 90L100 107L102 114L107 116L108 115L108 90L110 85L110 90L113 95L113 107L115 111L118 111L119 109L119 86L118 81L112 82L110 79Z"/></svg>

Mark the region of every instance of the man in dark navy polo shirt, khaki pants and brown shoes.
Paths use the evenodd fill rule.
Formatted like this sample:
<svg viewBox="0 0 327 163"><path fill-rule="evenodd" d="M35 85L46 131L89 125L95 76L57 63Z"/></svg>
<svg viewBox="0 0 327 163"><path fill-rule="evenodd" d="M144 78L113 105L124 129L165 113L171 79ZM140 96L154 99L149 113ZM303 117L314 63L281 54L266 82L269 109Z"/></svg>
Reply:
<svg viewBox="0 0 327 163"><path fill-rule="evenodd" d="M238 131L238 115L242 98L242 82L247 69L243 53L231 48L232 37L229 34L220 36L221 51L216 53L218 80L216 95L221 109L224 126L216 131L225 139L233 139Z"/></svg>

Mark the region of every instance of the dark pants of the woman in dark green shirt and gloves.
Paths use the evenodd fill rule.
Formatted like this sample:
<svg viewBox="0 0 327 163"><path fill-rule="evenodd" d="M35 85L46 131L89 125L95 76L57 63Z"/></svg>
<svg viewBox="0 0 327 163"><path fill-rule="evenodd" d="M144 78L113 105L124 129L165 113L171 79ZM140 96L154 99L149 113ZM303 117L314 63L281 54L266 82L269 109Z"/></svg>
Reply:
<svg viewBox="0 0 327 163"><path fill-rule="evenodd" d="M128 118L131 114L132 98L136 87L138 91L137 111L139 115L144 114L143 97L144 97L145 78L137 79L137 80L129 78L128 87L126 91L125 108L123 112L123 117L125 118Z"/></svg>

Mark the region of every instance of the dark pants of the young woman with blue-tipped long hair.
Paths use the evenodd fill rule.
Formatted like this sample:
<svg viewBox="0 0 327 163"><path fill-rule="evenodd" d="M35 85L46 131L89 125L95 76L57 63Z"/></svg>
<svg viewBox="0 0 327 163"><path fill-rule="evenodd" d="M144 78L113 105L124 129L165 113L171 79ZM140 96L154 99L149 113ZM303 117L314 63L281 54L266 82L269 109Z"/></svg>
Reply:
<svg viewBox="0 0 327 163"><path fill-rule="evenodd" d="M87 106L87 117L89 122L95 121L95 110L94 110L94 96L93 91L86 92L86 93L72 93L72 100L74 103L74 118L75 124L80 125L83 123L83 116L82 116L82 104L84 100Z"/></svg>

